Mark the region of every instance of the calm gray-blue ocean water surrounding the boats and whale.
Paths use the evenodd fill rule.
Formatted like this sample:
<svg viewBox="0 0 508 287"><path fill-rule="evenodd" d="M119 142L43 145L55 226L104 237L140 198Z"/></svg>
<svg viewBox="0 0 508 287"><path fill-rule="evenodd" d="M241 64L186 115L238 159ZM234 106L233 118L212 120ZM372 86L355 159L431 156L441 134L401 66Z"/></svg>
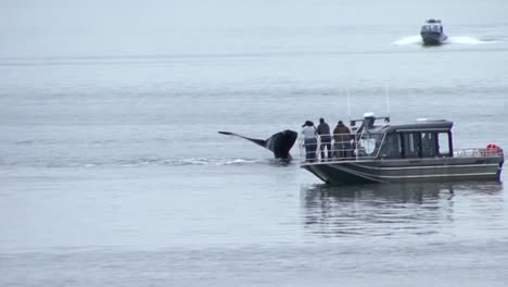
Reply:
<svg viewBox="0 0 508 287"><path fill-rule="evenodd" d="M508 149L508 2L2 1L0 286L507 286L501 183L331 187L350 113ZM448 43L422 47L443 20Z"/></svg>

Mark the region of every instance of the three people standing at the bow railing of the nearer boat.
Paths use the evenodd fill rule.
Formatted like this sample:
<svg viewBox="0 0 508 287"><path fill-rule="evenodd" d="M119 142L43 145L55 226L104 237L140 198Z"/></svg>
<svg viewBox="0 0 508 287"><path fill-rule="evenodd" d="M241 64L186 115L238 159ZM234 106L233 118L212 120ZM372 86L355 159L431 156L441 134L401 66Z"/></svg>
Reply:
<svg viewBox="0 0 508 287"><path fill-rule="evenodd" d="M313 162L316 160L318 145L321 161L332 158L353 157L356 133L355 122L351 122L351 125L352 128L348 128L344 122L339 121L333 129L333 134L331 134L330 126L325 122L325 118L319 118L317 128L312 121L305 121L301 134L304 137L306 161ZM319 142L318 138L320 139Z"/></svg>

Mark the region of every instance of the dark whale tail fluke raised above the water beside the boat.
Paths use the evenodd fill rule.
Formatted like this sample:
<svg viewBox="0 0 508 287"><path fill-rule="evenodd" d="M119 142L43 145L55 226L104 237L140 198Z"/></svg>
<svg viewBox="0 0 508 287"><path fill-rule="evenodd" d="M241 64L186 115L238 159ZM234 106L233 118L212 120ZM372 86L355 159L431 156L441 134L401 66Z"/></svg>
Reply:
<svg viewBox="0 0 508 287"><path fill-rule="evenodd" d="M230 132L218 132L218 133L223 135L228 135L228 136L237 136L237 137L241 137L246 140L250 140L258 146L262 146L266 149L271 150L274 152L275 158L281 159L281 160L291 160L291 154L289 153L289 151L293 147L294 141L296 141L296 138L299 136L296 132L291 130L291 129L279 132L267 139L256 139L256 138L244 137L242 135L230 133Z"/></svg>

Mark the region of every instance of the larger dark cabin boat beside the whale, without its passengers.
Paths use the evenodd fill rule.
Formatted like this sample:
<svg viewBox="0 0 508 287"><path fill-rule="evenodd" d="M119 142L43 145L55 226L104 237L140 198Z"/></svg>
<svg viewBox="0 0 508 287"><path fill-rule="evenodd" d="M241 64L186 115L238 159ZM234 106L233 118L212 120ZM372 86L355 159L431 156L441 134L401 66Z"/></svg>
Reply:
<svg viewBox="0 0 508 287"><path fill-rule="evenodd" d="M377 120L384 123L376 125ZM338 185L499 180L503 149L492 144L486 148L454 149L449 121L392 125L389 117L367 113L353 122L361 122L361 126L355 134L342 135L344 141L334 142L335 157L320 159L319 149L318 157L308 157L301 144L301 167L325 183Z"/></svg>

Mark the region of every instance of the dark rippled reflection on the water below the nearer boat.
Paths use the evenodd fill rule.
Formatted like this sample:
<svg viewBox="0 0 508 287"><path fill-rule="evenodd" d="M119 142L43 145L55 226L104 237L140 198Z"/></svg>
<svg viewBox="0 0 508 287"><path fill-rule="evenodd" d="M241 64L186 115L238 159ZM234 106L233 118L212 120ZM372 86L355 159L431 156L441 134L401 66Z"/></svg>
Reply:
<svg viewBox="0 0 508 287"><path fill-rule="evenodd" d="M303 220L312 234L326 237L430 235L453 224L456 195L466 209L482 212L503 200L498 182L330 186L301 190ZM478 198L482 200L478 201ZM474 215L475 216L475 215ZM447 227L445 227L447 226Z"/></svg>

